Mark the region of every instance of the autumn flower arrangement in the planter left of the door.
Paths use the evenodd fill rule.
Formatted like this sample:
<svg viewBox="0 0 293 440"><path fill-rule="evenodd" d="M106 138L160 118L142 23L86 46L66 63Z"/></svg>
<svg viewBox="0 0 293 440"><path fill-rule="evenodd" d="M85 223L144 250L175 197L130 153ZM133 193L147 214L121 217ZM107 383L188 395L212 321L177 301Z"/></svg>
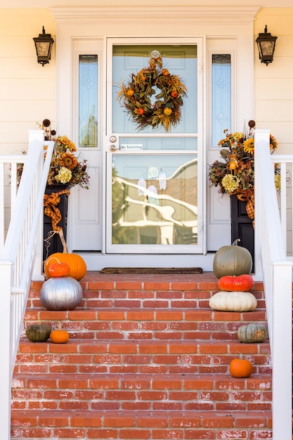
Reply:
<svg viewBox="0 0 293 440"><path fill-rule="evenodd" d="M39 124L39 123L38 123ZM59 183L67 186L79 185L82 188L89 189L89 174L86 172L86 160L78 160L73 153L77 148L67 136L56 136L56 131L51 130L51 121L44 119L39 127L44 130L45 141L55 141L50 169L48 171L48 186ZM46 157L46 146L44 147ZM20 179L22 165L18 167L18 176Z"/></svg>

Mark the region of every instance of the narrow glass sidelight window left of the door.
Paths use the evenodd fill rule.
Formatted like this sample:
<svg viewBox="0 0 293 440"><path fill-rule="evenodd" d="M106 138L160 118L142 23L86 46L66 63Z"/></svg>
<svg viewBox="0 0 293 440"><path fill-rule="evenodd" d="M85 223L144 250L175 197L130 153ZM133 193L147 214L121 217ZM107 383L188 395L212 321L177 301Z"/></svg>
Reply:
<svg viewBox="0 0 293 440"><path fill-rule="evenodd" d="M79 147L98 146L98 56L79 55Z"/></svg>

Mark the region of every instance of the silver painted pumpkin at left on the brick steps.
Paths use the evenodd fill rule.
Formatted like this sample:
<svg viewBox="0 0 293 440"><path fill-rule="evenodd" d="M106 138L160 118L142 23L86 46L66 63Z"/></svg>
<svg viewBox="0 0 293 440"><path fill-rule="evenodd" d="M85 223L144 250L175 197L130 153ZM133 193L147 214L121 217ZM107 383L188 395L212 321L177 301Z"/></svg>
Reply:
<svg viewBox="0 0 293 440"><path fill-rule="evenodd" d="M74 278L49 278L41 286L41 304L48 310L73 310L82 302L82 285Z"/></svg>

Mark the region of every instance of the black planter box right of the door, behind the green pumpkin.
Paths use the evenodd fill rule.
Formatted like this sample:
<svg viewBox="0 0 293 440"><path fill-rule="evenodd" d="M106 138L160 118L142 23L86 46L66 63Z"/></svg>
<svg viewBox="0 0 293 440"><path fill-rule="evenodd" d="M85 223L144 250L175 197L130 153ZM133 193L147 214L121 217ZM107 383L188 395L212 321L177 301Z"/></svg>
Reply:
<svg viewBox="0 0 293 440"><path fill-rule="evenodd" d="M246 247L252 254L252 261L254 261L254 228L252 226L252 219L246 212L246 202L237 199L237 195L230 196L231 206L231 242L240 238L238 245ZM252 266L254 272L254 265Z"/></svg>

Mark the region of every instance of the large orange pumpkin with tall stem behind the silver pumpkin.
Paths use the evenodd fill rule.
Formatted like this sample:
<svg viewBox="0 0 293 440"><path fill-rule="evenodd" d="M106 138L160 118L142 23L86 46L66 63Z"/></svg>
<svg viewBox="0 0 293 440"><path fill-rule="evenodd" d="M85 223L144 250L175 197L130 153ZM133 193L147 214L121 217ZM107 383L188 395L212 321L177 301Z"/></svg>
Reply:
<svg viewBox="0 0 293 440"><path fill-rule="evenodd" d="M79 254L67 254L66 252L56 252L50 255L44 262L44 272L47 278L51 278L51 273L49 271L52 264L66 263L70 270L67 276L74 278L79 281L84 278L86 274L86 263Z"/></svg>

